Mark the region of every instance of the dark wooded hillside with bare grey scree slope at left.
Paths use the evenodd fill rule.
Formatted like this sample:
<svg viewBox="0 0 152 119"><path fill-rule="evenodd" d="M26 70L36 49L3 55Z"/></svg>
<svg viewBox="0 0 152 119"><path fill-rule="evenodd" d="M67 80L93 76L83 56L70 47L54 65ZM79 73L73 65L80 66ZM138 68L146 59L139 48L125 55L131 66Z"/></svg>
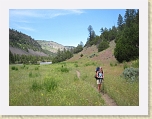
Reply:
<svg viewBox="0 0 152 119"><path fill-rule="evenodd" d="M9 50L13 54L48 56L51 54L41 48L41 45L31 36L14 29L9 29Z"/></svg>

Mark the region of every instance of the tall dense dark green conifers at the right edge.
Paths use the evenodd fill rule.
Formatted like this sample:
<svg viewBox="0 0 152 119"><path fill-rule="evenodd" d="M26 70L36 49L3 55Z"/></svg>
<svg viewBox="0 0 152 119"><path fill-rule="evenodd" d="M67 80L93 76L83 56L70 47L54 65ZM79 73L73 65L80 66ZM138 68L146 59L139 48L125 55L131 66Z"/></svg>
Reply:
<svg viewBox="0 0 152 119"><path fill-rule="evenodd" d="M118 32L114 55L119 62L139 58L139 9L127 9L124 17L119 14Z"/></svg>

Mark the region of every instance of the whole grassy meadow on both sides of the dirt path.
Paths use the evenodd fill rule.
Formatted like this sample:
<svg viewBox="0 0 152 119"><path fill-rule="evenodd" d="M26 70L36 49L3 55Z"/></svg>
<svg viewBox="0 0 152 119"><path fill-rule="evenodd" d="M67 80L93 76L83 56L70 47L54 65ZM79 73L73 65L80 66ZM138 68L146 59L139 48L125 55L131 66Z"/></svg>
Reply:
<svg viewBox="0 0 152 119"><path fill-rule="evenodd" d="M10 65L9 105L106 106L97 91L96 66L103 67L104 90L117 105L139 105L139 82L130 83L120 76L129 64L101 63L86 58L50 65Z"/></svg>

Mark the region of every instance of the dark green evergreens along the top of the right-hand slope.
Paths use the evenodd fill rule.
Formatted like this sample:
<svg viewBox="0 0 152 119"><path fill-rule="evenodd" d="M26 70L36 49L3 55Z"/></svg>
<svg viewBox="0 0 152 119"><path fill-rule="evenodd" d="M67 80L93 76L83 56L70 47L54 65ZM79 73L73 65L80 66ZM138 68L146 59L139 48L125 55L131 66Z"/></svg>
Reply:
<svg viewBox="0 0 152 119"><path fill-rule="evenodd" d="M118 15L117 27L101 28L101 35L95 34L93 27L88 27L89 37L85 47L96 45L98 52L109 47L109 42L114 40L116 47L114 56L119 62L139 58L139 9L126 9L124 17Z"/></svg>

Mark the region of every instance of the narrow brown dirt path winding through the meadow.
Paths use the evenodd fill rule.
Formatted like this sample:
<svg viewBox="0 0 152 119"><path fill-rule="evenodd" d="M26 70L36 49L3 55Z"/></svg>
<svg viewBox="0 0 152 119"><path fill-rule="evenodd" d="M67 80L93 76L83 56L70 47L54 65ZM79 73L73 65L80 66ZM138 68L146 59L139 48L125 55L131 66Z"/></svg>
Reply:
<svg viewBox="0 0 152 119"><path fill-rule="evenodd" d="M80 78L80 72L76 71L77 73L77 77ZM94 87L96 88L96 87ZM97 88L96 88L97 90ZM98 91L98 90L97 90ZM115 103L115 101L113 99L111 99L108 94L101 92L100 93L102 95L102 98L104 99L105 103L107 106L117 106L117 104Z"/></svg>

